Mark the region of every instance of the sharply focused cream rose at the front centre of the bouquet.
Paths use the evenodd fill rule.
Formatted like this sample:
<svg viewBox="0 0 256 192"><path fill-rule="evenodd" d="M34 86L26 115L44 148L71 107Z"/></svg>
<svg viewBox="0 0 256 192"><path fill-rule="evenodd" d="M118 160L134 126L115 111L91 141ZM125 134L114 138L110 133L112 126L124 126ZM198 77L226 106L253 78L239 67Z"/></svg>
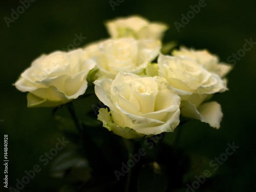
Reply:
<svg viewBox="0 0 256 192"><path fill-rule="evenodd" d="M110 109L100 109L98 119L127 139L173 132L179 124L180 97L164 80L122 72L114 80L96 80L95 94Z"/></svg>

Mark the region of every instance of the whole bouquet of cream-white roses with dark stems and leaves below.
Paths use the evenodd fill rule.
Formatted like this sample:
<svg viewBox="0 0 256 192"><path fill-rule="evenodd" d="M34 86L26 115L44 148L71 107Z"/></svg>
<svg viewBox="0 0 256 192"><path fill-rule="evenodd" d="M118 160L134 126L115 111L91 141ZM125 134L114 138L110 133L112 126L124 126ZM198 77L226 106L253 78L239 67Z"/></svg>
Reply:
<svg viewBox="0 0 256 192"><path fill-rule="evenodd" d="M110 38L41 55L15 82L28 107L72 117L56 115L76 147L55 158L52 176L64 179L60 191L182 188L193 181L190 158L164 137L191 119L219 129L221 105L209 100L227 91L231 66L207 50L162 46L167 25L140 16L105 26ZM86 103L81 118L73 100Z"/></svg>

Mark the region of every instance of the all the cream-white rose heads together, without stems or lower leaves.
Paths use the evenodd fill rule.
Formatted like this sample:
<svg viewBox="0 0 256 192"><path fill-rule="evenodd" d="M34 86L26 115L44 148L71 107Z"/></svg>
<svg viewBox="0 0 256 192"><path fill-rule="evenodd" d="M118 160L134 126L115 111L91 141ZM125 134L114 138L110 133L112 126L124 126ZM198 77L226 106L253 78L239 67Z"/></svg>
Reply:
<svg viewBox="0 0 256 192"><path fill-rule="evenodd" d="M109 108L101 108L98 119L124 138L173 132L180 114L220 127L220 104L205 101L227 90L224 77L230 65L206 50L161 54L167 26L139 16L111 20L106 28L109 39L32 62L15 82L18 90L29 92L29 107L65 104L94 81L95 94ZM94 79L90 73L96 74Z"/></svg>

